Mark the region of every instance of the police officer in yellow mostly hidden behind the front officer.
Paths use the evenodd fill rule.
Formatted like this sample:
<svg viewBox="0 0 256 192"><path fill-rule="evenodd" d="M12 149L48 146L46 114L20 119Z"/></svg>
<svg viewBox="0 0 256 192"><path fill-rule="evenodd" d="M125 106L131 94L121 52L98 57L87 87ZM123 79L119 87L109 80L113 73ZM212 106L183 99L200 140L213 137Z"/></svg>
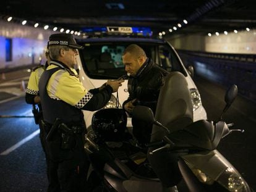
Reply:
<svg viewBox="0 0 256 192"><path fill-rule="evenodd" d="M50 61L49 59L49 49L46 48L45 50L45 57L47 59L45 65L38 65L38 67L35 67L32 70L32 73L30 74L29 80L28 80L28 86L26 89L26 94L25 94L25 101L28 104L33 105L33 115L35 118L35 123L39 125L40 128L40 141L41 145L43 147L43 151L45 152L45 130L42 127L42 119L43 119L43 113L41 111L41 104L40 104L40 96L39 96L39 90L38 90L38 83L41 77L41 74L46 70L46 67L48 67L48 63ZM37 107L36 107L37 105ZM47 157L46 157L46 162L47 162Z"/></svg>

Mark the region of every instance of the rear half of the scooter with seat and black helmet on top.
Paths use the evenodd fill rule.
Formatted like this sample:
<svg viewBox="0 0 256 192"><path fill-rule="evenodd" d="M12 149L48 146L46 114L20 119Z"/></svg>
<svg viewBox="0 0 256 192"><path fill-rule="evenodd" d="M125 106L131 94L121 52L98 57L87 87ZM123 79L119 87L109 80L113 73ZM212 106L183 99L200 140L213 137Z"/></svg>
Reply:
<svg viewBox="0 0 256 192"><path fill-rule="evenodd" d="M118 117L117 117L118 116ZM136 146L122 109L101 109L85 136L90 159L89 191L176 191L164 188L147 161L147 149Z"/></svg>

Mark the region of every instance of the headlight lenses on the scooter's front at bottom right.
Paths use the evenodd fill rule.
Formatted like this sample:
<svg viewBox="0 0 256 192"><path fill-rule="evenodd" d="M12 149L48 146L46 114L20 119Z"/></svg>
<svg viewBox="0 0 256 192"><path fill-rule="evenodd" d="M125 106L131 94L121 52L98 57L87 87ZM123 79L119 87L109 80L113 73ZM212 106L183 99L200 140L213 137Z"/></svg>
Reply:
<svg viewBox="0 0 256 192"><path fill-rule="evenodd" d="M190 170L198 178L198 180L206 185L213 185L215 180L209 177L206 173L203 173L202 170L197 169L194 165L186 162ZM232 167L228 167L220 176L216 179L220 185L222 185L226 190L231 192L246 192L250 191L249 186L241 175L234 170Z"/></svg>

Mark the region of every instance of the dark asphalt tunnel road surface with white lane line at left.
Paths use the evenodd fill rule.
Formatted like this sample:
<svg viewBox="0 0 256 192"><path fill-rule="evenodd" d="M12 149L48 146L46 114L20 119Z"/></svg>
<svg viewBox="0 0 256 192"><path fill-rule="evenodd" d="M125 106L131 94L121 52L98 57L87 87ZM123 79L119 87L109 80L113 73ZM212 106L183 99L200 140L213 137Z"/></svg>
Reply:
<svg viewBox="0 0 256 192"><path fill-rule="evenodd" d="M17 85L19 81L20 79ZM224 107L225 88L201 78L196 78L195 83L202 96L208 119L218 119ZM17 89L20 89L20 86L16 87L15 94L1 92L1 89L0 84L0 115L32 115L31 106L25 104L22 93L18 94ZM223 119L226 122L234 122L235 128L244 129L245 133L232 133L218 146L223 156L236 167L254 189L256 189L255 111L254 102L238 96ZM12 151L11 147L20 144L21 141L23 144ZM40 146L38 126L35 125L33 118L0 118L0 191L46 191L47 185L45 156Z"/></svg>

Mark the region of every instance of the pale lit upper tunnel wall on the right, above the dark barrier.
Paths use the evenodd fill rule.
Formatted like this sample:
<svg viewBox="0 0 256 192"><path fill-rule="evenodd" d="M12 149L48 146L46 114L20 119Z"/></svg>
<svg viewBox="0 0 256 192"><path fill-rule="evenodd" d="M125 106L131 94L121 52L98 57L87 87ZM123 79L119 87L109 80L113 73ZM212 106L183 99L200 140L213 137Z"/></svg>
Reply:
<svg viewBox="0 0 256 192"><path fill-rule="evenodd" d="M222 52L233 54L256 54L256 30L238 31L228 35L174 35L167 36L175 49L189 51Z"/></svg>

